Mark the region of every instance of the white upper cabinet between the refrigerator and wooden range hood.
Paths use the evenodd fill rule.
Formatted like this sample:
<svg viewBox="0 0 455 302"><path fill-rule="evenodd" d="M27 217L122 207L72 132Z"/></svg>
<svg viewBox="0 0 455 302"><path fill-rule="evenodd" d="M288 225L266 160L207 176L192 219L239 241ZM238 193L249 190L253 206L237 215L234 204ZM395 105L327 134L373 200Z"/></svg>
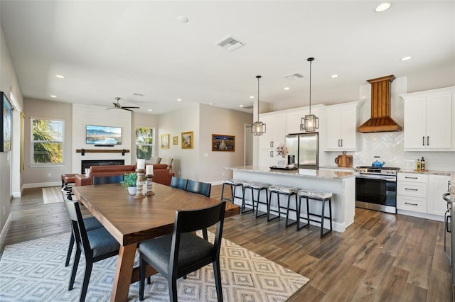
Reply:
<svg viewBox="0 0 455 302"><path fill-rule="evenodd" d="M326 107L326 151L358 150L359 105L355 101Z"/></svg>

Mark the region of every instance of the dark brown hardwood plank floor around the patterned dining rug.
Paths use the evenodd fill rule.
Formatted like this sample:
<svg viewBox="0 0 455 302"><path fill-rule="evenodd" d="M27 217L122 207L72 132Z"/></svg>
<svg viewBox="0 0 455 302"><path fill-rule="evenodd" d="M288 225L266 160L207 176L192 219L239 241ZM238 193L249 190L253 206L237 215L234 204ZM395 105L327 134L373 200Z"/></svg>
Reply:
<svg viewBox="0 0 455 302"><path fill-rule="evenodd" d="M212 186L213 198L220 193ZM63 203L43 204L41 195L26 189L13 199L4 245L70 232ZM223 233L310 279L289 301L452 301L443 236L443 223L361 208L346 232L323 239L316 226L296 232L283 218L252 213L227 218Z"/></svg>

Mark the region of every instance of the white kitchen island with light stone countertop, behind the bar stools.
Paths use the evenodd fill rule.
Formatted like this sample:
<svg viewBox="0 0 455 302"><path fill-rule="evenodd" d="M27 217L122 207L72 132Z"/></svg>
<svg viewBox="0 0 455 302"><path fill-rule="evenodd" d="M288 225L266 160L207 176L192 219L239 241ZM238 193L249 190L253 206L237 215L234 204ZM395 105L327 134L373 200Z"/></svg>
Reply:
<svg viewBox="0 0 455 302"><path fill-rule="evenodd" d="M343 233L346 228L354 222L355 215L355 174L353 172L341 172L334 170L276 170L269 167L258 166L241 166L230 167L232 169L234 179L244 181L258 181L267 184L296 186L299 189L313 189L319 191L331 192L332 196L332 221L333 230ZM242 196L240 187L236 189L236 196ZM256 194L255 194L256 196ZM245 193L245 200L251 201L250 190ZM260 201L266 202L265 194L262 193ZM287 199L280 198L282 206ZM241 204L240 198L235 198L236 204ZM263 203L259 203L259 211L266 212L267 208ZM277 211L277 198L273 196L270 201L270 208ZM291 199L291 209L295 210L295 203ZM302 205L302 209L305 207ZM321 202L310 201L312 213L321 211ZM301 213L301 216L306 216L306 211ZM296 212L291 211L289 218L295 220ZM326 221L326 228L328 221Z"/></svg>

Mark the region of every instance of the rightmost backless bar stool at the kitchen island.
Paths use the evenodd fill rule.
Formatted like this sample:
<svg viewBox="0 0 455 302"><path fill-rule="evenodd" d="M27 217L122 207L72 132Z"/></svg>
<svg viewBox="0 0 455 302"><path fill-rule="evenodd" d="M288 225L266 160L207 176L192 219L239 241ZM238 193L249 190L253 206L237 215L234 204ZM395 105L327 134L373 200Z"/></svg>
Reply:
<svg viewBox="0 0 455 302"><path fill-rule="evenodd" d="M298 194L299 194L299 208L297 210L297 230L301 230L302 228L309 227L310 221L313 221L314 223L321 223L321 238L324 237L325 235L327 235L328 233L331 233L331 231L332 231L332 201L331 201L332 193L310 190L310 189L300 189L298 191ZM300 216L302 198L306 198L306 218ZM318 213L310 213L309 199L322 202L321 215L319 215ZM328 216L326 216L326 213L324 211L326 202L328 202ZM319 217L320 220L312 219L312 218L310 218L310 216ZM306 220L306 223L304 225L300 225L300 218ZM330 229L326 230L326 232L323 231L324 230L324 219L328 219L328 221L330 223Z"/></svg>

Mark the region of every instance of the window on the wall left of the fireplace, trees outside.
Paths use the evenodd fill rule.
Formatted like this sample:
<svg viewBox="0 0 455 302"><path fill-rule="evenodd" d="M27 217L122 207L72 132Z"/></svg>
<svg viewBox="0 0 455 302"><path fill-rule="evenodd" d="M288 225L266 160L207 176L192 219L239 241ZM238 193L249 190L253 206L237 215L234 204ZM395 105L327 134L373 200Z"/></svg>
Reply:
<svg viewBox="0 0 455 302"><path fill-rule="evenodd" d="M65 122L31 118L31 164L63 164Z"/></svg>

